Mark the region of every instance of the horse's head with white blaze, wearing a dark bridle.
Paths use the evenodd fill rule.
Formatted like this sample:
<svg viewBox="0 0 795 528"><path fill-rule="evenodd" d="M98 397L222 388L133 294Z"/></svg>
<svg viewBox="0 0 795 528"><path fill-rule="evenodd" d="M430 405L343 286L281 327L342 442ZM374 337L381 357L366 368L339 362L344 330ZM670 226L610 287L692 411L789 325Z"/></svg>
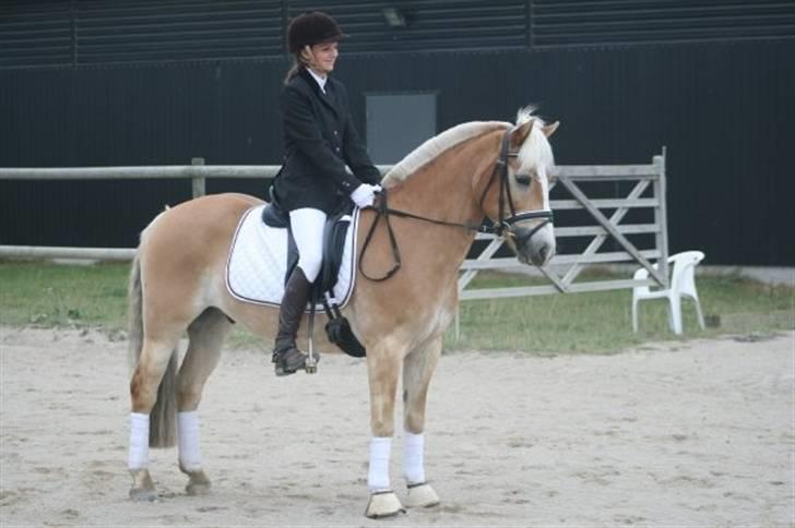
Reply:
<svg viewBox="0 0 795 528"><path fill-rule="evenodd" d="M519 260L536 266L555 255L549 208L549 171L555 159L547 139L558 124L544 123L530 109L520 110L517 125L502 137L497 164L480 195L482 208Z"/></svg>

